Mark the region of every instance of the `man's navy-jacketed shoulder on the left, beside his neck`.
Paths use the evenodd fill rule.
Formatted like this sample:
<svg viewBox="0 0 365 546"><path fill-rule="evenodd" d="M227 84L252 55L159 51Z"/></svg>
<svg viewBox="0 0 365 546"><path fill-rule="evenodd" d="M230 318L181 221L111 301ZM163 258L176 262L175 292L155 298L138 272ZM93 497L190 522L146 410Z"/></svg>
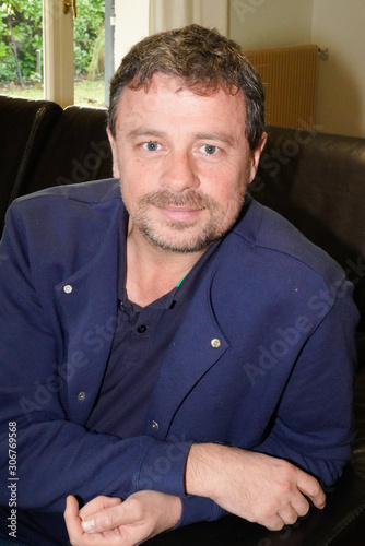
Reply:
<svg viewBox="0 0 365 546"><path fill-rule="evenodd" d="M3 248L19 247L48 262L71 256L80 264L114 233L120 211L126 213L116 179L38 191L9 207Z"/></svg>

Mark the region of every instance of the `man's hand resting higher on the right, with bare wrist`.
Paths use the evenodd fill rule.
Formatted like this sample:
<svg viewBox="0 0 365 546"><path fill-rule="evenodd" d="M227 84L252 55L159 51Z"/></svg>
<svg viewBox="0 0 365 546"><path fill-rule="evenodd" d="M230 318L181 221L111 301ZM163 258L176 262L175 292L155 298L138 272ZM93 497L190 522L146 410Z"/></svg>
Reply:
<svg viewBox="0 0 365 546"><path fill-rule="evenodd" d="M318 480L293 464L262 453L213 443L191 447L186 490L210 497L222 508L248 521L279 531L305 515L311 499L323 508Z"/></svg>

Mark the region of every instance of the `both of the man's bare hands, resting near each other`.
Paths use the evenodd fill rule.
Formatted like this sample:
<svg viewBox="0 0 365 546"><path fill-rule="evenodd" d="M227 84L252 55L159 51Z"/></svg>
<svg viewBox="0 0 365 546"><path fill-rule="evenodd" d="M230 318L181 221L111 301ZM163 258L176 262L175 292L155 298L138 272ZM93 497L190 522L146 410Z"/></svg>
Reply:
<svg viewBox="0 0 365 546"><path fill-rule="evenodd" d="M193 444L186 466L186 491L208 497L231 513L269 530L293 524L309 510L309 498L323 508L318 480L296 466L262 453ZM79 511L68 497L64 520L73 546L137 546L172 529L181 517L178 497L138 491L125 502L97 497Z"/></svg>

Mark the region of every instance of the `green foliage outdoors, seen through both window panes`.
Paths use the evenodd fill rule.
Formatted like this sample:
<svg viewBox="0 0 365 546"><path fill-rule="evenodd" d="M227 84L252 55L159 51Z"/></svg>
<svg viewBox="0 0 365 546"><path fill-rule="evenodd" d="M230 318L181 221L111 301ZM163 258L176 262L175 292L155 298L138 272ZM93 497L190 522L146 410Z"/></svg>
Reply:
<svg viewBox="0 0 365 546"><path fill-rule="evenodd" d="M38 81L37 49L43 48L43 0L0 3L0 82ZM78 0L74 21L75 74L89 71L94 41L104 28L104 0Z"/></svg>

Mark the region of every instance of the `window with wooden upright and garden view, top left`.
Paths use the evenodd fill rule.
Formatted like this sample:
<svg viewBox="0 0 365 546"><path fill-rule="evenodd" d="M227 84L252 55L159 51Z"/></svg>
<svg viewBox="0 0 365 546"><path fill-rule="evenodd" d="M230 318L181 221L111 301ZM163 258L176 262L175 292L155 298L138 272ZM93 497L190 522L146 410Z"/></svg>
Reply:
<svg viewBox="0 0 365 546"><path fill-rule="evenodd" d="M3 2L0 93L103 106L105 4L111 8L110 0L78 0L73 19L72 0Z"/></svg>

